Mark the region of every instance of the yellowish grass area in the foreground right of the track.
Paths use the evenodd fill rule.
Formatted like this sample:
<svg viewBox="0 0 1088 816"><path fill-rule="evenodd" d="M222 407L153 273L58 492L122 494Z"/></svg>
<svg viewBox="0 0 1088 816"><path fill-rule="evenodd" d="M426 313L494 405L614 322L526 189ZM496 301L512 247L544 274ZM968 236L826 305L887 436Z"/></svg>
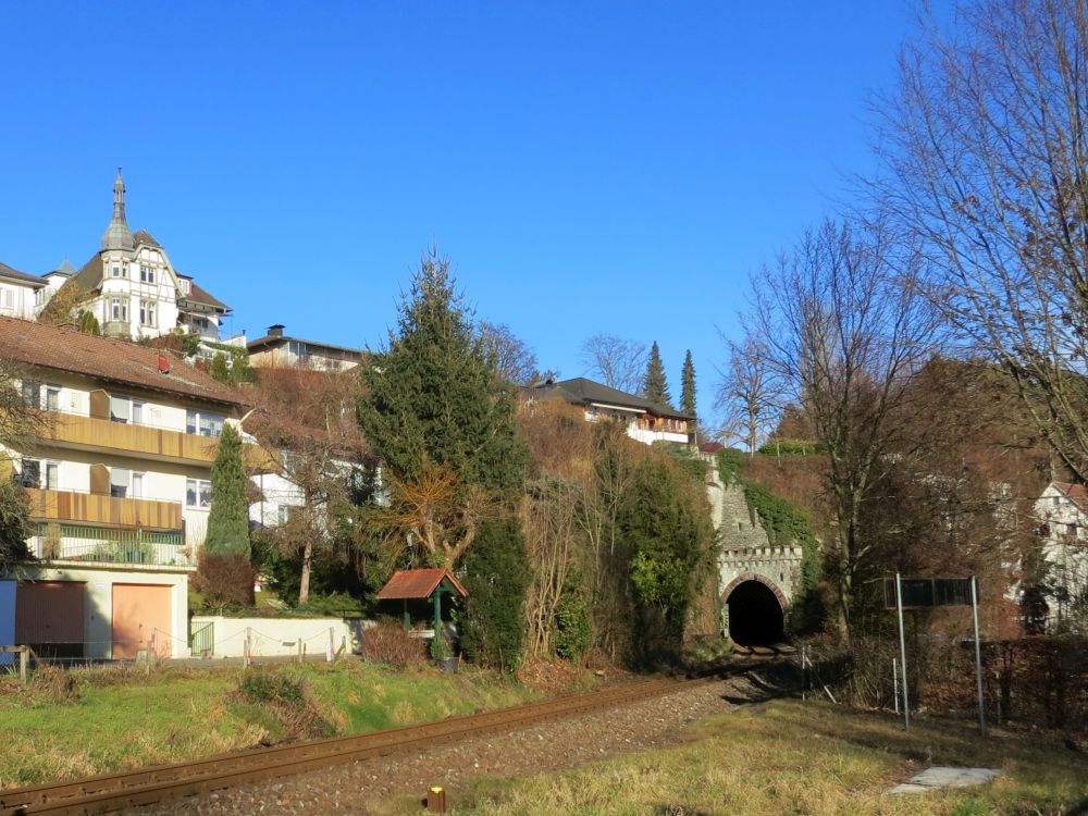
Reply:
<svg viewBox="0 0 1088 816"><path fill-rule="evenodd" d="M997 733L967 724L924 722L902 731L888 715L775 702L715 717L683 745L615 757L520 780L482 779L449 791L452 813L567 816L769 816L770 814L1088 813L1088 757L1054 737ZM979 788L890 796L929 765L1001 768ZM419 812L399 799L385 814Z"/></svg>

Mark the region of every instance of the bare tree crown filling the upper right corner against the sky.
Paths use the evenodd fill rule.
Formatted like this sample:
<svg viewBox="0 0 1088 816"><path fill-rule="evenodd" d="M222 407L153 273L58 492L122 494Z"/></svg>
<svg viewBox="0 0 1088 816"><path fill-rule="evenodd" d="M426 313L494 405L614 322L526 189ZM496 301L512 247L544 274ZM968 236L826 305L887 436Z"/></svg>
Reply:
<svg viewBox="0 0 1088 816"><path fill-rule="evenodd" d="M926 292L1088 481L1088 2L973 0L901 58L871 182Z"/></svg>

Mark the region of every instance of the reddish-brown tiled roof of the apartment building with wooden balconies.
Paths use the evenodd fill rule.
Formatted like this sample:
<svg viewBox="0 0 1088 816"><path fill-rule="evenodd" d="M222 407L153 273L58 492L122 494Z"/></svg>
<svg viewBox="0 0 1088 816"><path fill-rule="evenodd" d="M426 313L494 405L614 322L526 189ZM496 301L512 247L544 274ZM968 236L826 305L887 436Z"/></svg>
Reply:
<svg viewBox="0 0 1088 816"><path fill-rule="evenodd" d="M233 388L166 351L70 327L0 318L0 349L4 357L26 366L227 405L246 404ZM168 373L159 371L162 354L170 361Z"/></svg>

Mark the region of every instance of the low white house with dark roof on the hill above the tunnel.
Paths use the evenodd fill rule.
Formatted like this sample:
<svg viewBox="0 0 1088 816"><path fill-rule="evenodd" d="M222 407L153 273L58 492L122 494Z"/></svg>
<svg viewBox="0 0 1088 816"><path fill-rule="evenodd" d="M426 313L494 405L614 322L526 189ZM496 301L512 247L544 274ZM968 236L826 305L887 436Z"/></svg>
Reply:
<svg viewBox="0 0 1088 816"><path fill-rule="evenodd" d="M583 376L558 382L545 380L522 392L529 399L562 399L579 406L585 411L589 422L601 419L622 422L627 425L628 436L646 445L655 442L689 445L694 442L693 416Z"/></svg>

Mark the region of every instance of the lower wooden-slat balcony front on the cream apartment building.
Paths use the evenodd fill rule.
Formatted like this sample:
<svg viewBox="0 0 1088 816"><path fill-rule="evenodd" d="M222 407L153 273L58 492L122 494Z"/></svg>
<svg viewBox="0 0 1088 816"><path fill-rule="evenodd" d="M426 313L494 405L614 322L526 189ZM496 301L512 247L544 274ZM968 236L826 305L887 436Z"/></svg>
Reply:
<svg viewBox="0 0 1088 816"><path fill-rule="evenodd" d="M182 530L180 502L116 498L98 493L75 493L27 487L30 518L36 521L76 521L112 528Z"/></svg>

